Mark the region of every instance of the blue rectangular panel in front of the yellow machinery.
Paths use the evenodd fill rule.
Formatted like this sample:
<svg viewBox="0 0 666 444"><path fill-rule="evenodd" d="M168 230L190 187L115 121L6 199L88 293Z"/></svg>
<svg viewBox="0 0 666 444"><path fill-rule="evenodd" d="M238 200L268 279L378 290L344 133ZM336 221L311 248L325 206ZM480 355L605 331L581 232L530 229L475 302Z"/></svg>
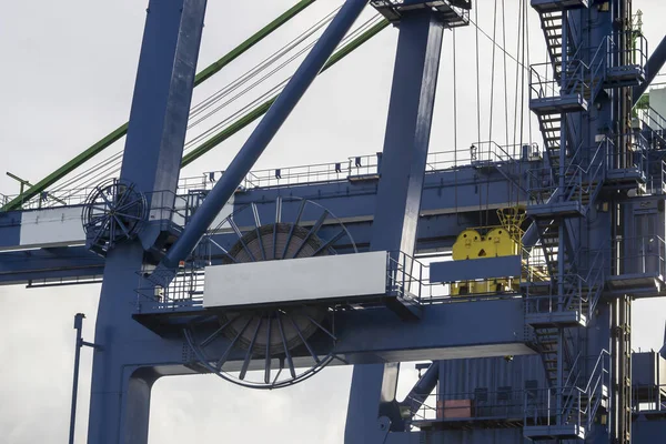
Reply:
<svg viewBox="0 0 666 444"><path fill-rule="evenodd" d="M468 261L433 262L431 282L521 276L521 256L483 258Z"/></svg>

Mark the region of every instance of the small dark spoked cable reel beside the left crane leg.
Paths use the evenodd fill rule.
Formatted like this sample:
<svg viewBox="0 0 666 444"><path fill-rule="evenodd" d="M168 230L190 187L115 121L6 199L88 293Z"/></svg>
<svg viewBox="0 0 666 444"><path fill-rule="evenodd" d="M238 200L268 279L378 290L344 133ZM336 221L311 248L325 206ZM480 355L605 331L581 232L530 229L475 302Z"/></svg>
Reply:
<svg viewBox="0 0 666 444"><path fill-rule="evenodd" d="M147 213L145 196L133 183L113 179L95 186L81 214L87 246L105 254L118 242L134 239Z"/></svg>

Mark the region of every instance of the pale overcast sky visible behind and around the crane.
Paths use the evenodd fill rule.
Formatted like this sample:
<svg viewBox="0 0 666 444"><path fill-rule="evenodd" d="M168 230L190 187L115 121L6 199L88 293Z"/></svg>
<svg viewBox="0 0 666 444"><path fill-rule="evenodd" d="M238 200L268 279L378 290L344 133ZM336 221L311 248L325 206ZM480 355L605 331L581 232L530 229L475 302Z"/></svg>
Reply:
<svg viewBox="0 0 666 444"><path fill-rule="evenodd" d="M206 14L200 69L220 58L252 32L293 4L294 0L231 2L211 0ZM70 0L4 1L0 17L0 169L37 181L127 121L143 31L143 0L91 2ZM493 33L493 4L481 1L482 29ZM498 3L502 3L501 1ZM320 0L243 56L195 92L194 102L222 88L319 20L340 1ZM506 0L507 51L516 54L517 0ZM261 8L260 8L261 6ZM645 14L650 48L663 34L666 6L636 0ZM372 14L366 11L364 18ZM545 61L536 13L529 10L531 59ZM501 23L501 20L500 20ZM383 142L396 30L386 29L347 60L324 73L290 117L258 168L332 162L380 151ZM491 43L480 36L481 129L476 124L475 30L457 31L456 140L461 157L470 143L494 139L504 143L506 117L501 52L496 52L494 117L490 129ZM501 24L497 31L501 39ZM446 33L431 152L454 148L452 37ZM295 65L290 65L291 70ZM509 60L508 102L515 97ZM286 74L286 73L285 73ZM274 83L273 83L274 84ZM221 115L223 117L223 115ZM527 121L526 121L527 122ZM513 125L513 118L509 118ZM246 139L242 131L215 152L194 162L185 175L222 170ZM525 124L525 139L529 125ZM536 127L533 140L541 141ZM513 129L509 129L513 141ZM519 140L519 137L518 137ZM122 143L117 149L122 148ZM18 185L3 173L0 192ZM27 290L0 287L0 443L65 442L73 356L72 317L88 315L84 336L93 339L98 285ZM635 304L634 347L662 343L665 315L660 302ZM78 442L84 442L91 353L81 366ZM414 380L403 366L403 391ZM153 391L151 443L196 440L275 443L340 443L350 387L350 367L329 369L316 377L273 393L241 390L215 376L162 379ZM231 435L231 436L230 436Z"/></svg>

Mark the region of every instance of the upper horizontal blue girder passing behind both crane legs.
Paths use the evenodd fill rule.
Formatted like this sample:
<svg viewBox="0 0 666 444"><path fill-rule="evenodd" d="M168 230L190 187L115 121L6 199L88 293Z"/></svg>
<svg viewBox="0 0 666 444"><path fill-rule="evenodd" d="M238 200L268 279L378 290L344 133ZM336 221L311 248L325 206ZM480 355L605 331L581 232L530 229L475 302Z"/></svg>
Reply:
<svg viewBox="0 0 666 444"><path fill-rule="evenodd" d="M442 157L446 155L453 155L453 152L442 154ZM432 165L432 168L440 169L428 171L425 175L421 204L422 220L427 221L430 216L442 213L458 213L461 214L458 231L471 224L478 224L480 206L490 210L506 206L509 195L512 201L526 203L528 193L524 186L518 186L518 184L524 182L525 173L531 168L541 169L543 167L542 161L505 161L502 167L467 164L453 168L453 161ZM272 218L274 201L278 196L300 196L320 203L343 219L345 223L351 223L357 222L362 218L372 220L376 206L376 179L365 181L342 179L327 183L259 186L236 192L234 208L239 209L254 202L262 219L264 215ZM186 194L183 195L186 196ZM194 200L191 199L191 201ZM472 202L473 204L471 204ZM194 209L195 205L191 208L191 210ZM0 213L0 250L21 248L21 220L30 219L31 212L32 210ZM289 204L285 212L287 216L290 212L293 212ZM2 216L6 216L7 224L1 223ZM78 221L72 221L72 223L78 223ZM454 232L452 235L455 236L456 233ZM78 244L81 240L71 244ZM2 265L0 264L0 266Z"/></svg>

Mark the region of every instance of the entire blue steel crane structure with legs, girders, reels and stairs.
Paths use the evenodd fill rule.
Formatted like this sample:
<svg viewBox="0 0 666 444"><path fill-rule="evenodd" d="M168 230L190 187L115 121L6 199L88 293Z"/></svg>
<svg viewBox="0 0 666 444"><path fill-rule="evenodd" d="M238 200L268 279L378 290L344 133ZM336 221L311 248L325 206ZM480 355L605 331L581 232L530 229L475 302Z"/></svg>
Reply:
<svg viewBox="0 0 666 444"><path fill-rule="evenodd" d="M94 344L78 339L94 353L89 442L145 443L162 376L275 389L329 364L354 365L346 443L657 442L666 361L632 352L630 306L663 295L665 135L632 109L666 44L647 60L630 0L532 0L543 152L480 143L433 164L443 33L476 6L371 4L400 33L376 161L248 175L366 6L346 0L214 186L179 188L206 2L153 0L120 176L79 205L0 213L0 282L101 276ZM472 230L481 209L456 195L501 228ZM415 360L433 363L398 401Z"/></svg>

